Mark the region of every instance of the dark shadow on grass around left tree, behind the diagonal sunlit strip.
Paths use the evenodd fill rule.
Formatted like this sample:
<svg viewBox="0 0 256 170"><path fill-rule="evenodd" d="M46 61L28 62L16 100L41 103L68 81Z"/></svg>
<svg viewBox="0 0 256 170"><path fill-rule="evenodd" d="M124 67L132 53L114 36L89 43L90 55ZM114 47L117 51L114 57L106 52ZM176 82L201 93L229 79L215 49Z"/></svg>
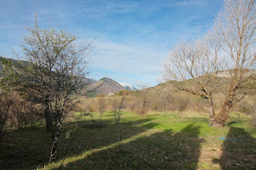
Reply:
<svg viewBox="0 0 256 170"><path fill-rule="evenodd" d="M120 132L119 128L123 129L121 139L143 133L148 128L143 127L142 124L147 124L151 119L124 122L118 126L110 120L101 121L105 122L105 128L80 128L75 130L75 123L65 124L57 152L58 160L64 158L69 143L68 140L64 139L65 131L72 130L70 139L73 139L73 141L69 147L68 158L80 155L87 150L118 142L120 139L120 135L117 135ZM86 121L81 123L86 123ZM50 136L51 134L46 132L45 127L23 128L13 131L0 144L0 169L37 169L37 166L47 164L52 144Z"/></svg>

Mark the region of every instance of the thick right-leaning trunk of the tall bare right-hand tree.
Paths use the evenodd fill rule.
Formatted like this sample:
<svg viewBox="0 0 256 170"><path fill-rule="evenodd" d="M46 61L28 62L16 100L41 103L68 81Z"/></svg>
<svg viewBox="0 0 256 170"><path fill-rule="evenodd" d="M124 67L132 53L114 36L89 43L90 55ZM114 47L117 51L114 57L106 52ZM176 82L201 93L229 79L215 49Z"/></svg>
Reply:
<svg viewBox="0 0 256 170"><path fill-rule="evenodd" d="M230 109L233 107L233 101L236 96L236 89L236 85L230 88L227 98L222 105L222 109L219 111L217 121L220 126L224 126L225 123L227 123L227 120L230 118Z"/></svg>

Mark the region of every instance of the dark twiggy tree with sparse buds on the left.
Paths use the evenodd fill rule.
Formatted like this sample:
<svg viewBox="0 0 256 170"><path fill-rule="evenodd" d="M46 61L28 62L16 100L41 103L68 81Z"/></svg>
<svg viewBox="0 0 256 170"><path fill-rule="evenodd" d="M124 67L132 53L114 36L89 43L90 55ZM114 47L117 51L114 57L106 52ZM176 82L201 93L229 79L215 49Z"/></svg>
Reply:
<svg viewBox="0 0 256 170"><path fill-rule="evenodd" d="M78 36L54 28L27 27L23 37L23 57L19 64L20 91L45 110L48 131L53 131L50 161L56 158L61 124L89 82L86 79L91 42L78 43Z"/></svg>

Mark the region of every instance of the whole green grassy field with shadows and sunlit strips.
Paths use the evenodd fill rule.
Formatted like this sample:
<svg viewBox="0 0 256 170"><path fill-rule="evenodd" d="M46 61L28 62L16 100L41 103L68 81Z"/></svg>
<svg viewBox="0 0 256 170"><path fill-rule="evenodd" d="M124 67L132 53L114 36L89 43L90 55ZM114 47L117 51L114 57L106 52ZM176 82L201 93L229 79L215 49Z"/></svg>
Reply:
<svg viewBox="0 0 256 170"><path fill-rule="evenodd" d="M256 169L256 128L248 117L233 115L228 128L209 127L207 119L204 113L154 112L141 118L124 112L115 125L113 113L102 119L94 113L93 122L106 126L77 130L74 122L65 124L58 160L45 169ZM83 117L81 123L90 121ZM43 169L50 136L45 127L12 131L0 143L0 169Z"/></svg>

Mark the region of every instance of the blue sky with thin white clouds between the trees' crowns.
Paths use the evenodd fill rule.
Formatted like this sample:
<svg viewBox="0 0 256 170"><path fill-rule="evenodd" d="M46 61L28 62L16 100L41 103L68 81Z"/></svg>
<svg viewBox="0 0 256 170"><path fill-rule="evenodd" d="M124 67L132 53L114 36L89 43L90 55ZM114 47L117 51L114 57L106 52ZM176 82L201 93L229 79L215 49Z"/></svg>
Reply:
<svg viewBox="0 0 256 170"><path fill-rule="evenodd" d="M0 0L0 55L13 58L23 26L33 23L71 31L93 39L91 78L156 85L170 48L182 40L193 41L211 28L222 0Z"/></svg>

